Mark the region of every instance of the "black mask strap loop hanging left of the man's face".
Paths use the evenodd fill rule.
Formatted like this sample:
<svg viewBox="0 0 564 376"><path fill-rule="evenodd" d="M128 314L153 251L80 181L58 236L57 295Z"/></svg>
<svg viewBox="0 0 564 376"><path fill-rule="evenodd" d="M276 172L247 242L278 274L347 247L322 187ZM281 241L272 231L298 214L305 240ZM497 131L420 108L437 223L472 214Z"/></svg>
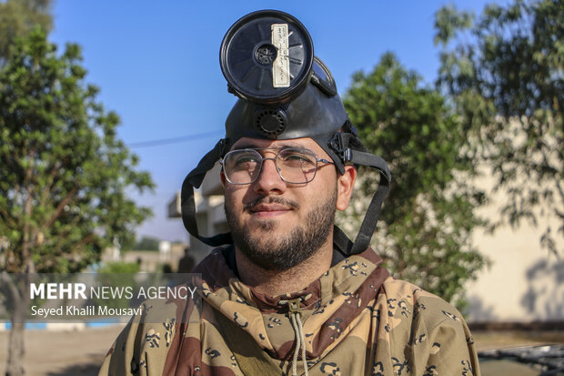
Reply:
<svg viewBox="0 0 564 376"><path fill-rule="evenodd" d="M220 139L216 146L210 150L204 158L200 160L196 168L194 168L184 179L182 183L182 191L180 194L181 198L181 211L182 211L182 221L184 222L184 227L188 230L190 235L200 239L202 242L206 243L208 246L218 247L223 244L232 243L231 233L217 234L213 237L203 237L200 236L197 230L196 222L196 201L194 199L194 188L200 188L202 181L206 178L206 173L210 169L214 168L216 162L224 154L224 147L226 145L225 139Z"/></svg>

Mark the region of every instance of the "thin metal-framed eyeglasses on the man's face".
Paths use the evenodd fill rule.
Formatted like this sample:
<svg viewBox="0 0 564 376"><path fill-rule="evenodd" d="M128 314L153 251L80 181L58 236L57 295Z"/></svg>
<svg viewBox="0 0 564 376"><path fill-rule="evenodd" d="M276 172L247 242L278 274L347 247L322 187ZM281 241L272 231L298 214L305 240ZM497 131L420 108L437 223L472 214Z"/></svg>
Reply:
<svg viewBox="0 0 564 376"><path fill-rule="evenodd" d="M275 158L265 158L258 150L278 150ZM290 184L306 184L316 177L317 163L335 164L317 158L307 148L245 148L228 152L219 163L223 166L227 181L231 184L251 184L262 170L263 162L273 160L280 178Z"/></svg>

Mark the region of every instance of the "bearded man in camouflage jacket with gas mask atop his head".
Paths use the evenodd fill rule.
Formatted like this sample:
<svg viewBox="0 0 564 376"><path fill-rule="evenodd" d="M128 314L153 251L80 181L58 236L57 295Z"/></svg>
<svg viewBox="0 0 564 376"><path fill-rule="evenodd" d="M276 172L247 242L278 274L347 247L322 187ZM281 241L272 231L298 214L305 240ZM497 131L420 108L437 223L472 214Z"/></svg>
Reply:
<svg viewBox="0 0 564 376"><path fill-rule="evenodd" d="M146 303L100 375L478 375L458 311L391 278L368 248L388 167L356 136L303 25L247 15L221 62L240 99L226 137L186 177L182 209L191 234L227 246L195 269L201 303ZM231 232L204 238L192 188L219 158ZM382 178L353 243L334 217L357 164Z"/></svg>

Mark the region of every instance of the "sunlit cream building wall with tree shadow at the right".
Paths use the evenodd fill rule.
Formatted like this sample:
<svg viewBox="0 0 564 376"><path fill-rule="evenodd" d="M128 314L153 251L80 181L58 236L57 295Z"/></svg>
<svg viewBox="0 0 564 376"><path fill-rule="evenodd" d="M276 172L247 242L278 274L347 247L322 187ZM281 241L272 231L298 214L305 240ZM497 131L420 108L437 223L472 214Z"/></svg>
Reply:
<svg viewBox="0 0 564 376"><path fill-rule="evenodd" d="M492 205L479 214L497 218L503 199L493 196ZM552 229L557 229L553 222ZM548 224L539 220L533 228L523 222L518 229L505 226L494 235L475 232L476 245L491 266L467 285L469 321L564 321L564 259L541 249L539 242ZM561 235L555 238L561 240Z"/></svg>

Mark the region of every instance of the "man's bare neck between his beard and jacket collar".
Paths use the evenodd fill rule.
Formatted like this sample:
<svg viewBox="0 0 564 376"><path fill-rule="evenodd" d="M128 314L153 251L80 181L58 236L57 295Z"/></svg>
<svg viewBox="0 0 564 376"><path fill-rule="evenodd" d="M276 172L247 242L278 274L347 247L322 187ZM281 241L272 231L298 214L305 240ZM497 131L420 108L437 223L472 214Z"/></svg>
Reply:
<svg viewBox="0 0 564 376"><path fill-rule="evenodd" d="M239 278L255 291L275 297L289 292L304 290L331 266L333 234L309 259L287 270L267 270L253 263L237 247L235 257Z"/></svg>

